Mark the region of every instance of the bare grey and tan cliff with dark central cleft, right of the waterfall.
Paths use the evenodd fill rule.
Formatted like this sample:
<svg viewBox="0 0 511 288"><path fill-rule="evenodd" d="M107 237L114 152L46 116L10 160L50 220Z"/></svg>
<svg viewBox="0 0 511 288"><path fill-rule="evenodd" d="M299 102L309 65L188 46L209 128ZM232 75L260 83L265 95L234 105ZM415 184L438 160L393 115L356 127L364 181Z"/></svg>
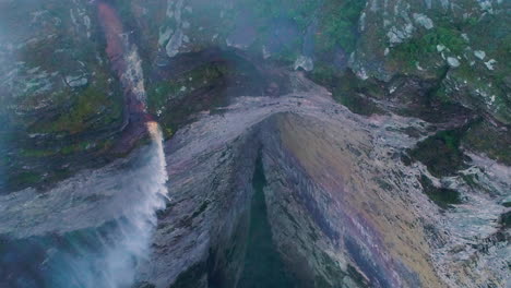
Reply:
<svg viewBox="0 0 511 288"><path fill-rule="evenodd" d="M467 192L463 197L483 202L464 201L464 208L441 214L420 183L424 175L438 179L424 166L401 160L419 139L403 131L426 135L427 127L406 118L357 117L320 88L280 98L242 97L221 116L203 116L168 142L173 200L159 215L141 281L258 287L246 274L282 262L280 279L299 287L503 285L504 262L482 265L499 257L506 242L492 242L496 250L489 254L456 249L508 233L487 221L475 225L475 219L499 217L503 209L489 203L506 192L494 200L480 190ZM504 170L501 189L509 185ZM263 184L257 184L261 173ZM265 213L253 203L261 201L260 188ZM475 230L462 236L456 221L467 211ZM264 220L271 232L254 236ZM265 241L272 249L250 244ZM252 256L268 251L278 259Z"/></svg>

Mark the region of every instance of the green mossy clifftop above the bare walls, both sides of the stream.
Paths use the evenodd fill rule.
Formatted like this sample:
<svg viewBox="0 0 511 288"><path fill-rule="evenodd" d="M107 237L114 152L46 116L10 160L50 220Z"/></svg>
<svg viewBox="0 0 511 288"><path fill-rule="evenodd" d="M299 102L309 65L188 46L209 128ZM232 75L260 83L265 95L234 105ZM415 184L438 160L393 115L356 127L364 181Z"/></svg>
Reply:
<svg viewBox="0 0 511 288"><path fill-rule="evenodd" d="M250 69L261 74L207 52L234 50L252 63L308 71L357 112L480 117L465 146L510 163L496 152L509 143L507 1L2 1L2 190L49 185L129 151L115 148L132 107L119 63L108 59L115 47L102 2L140 55L144 73L129 76L145 81L148 112L165 122L166 136L193 112L225 105L231 91L223 92ZM282 94L278 81L251 85L241 91ZM88 156L96 160L76 165Z"/></svg>

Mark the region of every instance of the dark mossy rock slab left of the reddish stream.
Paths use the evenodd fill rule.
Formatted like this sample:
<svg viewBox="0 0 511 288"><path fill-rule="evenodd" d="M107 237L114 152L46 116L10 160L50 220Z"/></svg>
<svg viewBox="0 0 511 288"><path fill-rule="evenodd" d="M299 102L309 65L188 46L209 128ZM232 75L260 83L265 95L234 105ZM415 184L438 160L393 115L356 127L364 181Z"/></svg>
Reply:
<svg viewBox="0 0 511 288"><path fill-rule="evenodd" d="M2 1L0 19L0 193L105 165L123 105L95 8Z"/></svg>

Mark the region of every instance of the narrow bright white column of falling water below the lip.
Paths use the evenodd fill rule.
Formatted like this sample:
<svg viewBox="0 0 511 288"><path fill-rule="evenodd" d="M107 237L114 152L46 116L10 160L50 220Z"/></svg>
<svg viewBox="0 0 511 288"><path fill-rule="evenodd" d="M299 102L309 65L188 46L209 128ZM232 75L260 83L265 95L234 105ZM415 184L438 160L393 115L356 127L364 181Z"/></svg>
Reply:
<svg viewBox="0 0 511 288"><path fill-rule="evenodd" d="M105 279L111 288L128 287L133 283L136 264L150 254L151 236L157 221L156 212L165 208L165 184L168 177L163 136L156 122L148 122L147 130L152 143L148 154L145 155L145 167L131 175L132 179L136 180L132 182L131 191L128 192L130 194L126 195L132 205L127 205L123 214L126 221L120 226L120 242L107 249L105 255Z"/></svg>

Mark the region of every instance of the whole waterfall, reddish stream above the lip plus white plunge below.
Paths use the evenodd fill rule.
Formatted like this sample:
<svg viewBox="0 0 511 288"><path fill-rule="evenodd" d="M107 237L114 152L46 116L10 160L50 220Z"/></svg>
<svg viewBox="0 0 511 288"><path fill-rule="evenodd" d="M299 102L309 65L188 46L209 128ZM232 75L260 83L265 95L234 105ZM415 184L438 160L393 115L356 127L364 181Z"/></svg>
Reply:
<svg viewBox="0 0 511 288"><path fill-rule="evenodd" d="M112 70L119 75L124 88L128 107L126 112L146 115L146 93L142 60L136 46L130 43L129 34L123 33L121 21L108 3L98 3L99 19L103 21L107 38L107 55ZM139 119L140 120L140 119ZM159 125L151 120L134 123L145 129L151 137L151 145L135 157L133 168L121 171L115 181L121 187L112 208L121 212L122 217L106 237L99 237L98 255L75 257L78 264L75 278L71 279L79 287L130 287L134 280L136 265L148 255L151 236L156 226L156 212L165 207L167 197L167 171ZM85 261L83 264L82 261ZM84 274L84 268L91 272ZM92 277L88 277L92 276ZM69 280L69 279L68 279Z"/></svg>

